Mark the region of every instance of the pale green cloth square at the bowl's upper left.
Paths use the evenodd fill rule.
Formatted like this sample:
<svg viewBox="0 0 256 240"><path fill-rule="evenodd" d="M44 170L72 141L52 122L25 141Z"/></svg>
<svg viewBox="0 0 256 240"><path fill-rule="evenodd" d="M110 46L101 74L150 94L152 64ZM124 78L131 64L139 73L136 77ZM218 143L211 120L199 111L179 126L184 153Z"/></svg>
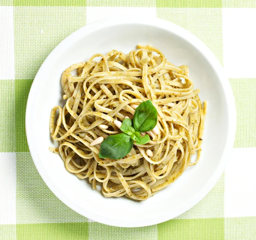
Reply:
<svg viewBox="0 0 256 240"><path fill-rule="evenodd" d="M49 53L86 25L86 7L14 7L15 78L33 79Z"/></svg>

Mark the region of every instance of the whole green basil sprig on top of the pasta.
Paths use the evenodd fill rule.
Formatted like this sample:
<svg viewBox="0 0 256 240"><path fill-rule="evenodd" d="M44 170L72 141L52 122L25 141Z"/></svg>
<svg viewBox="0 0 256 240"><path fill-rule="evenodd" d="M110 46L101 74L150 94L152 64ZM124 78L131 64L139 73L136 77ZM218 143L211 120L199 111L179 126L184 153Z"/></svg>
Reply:
<svg viewBox="0 0 256 240"><path fill-rule="evenodd" d="M157 125L157 109L151 100L140 103L134 113L134 119L126 118L122 121L122 133L107 137L100 146L99 157L120 159L132 149L134 141L138 145L150 141L148 134L141 137L141 132L150 131Z"/></svg>

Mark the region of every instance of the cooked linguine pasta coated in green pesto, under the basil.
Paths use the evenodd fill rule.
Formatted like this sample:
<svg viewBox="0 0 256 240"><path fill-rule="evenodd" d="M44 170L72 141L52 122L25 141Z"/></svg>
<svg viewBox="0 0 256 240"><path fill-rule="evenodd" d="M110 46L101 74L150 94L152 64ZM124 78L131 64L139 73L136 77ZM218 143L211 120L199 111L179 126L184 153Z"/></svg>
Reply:
<svg viewBox="0 0 256 240"><path fill-rule="evenodd" d="M61 78L66 103L50 114L50 134L59 148L49 150L93 189L102 186L105 197L146 200L198 163L201 154L206 103L202 106L188 67L174 66L152 46L137 48L95 54L68 67ZM122 132L114 121L133 119L136 106L146 100L157 109L150 141L134 143L121 159L99 158L100 142ZM95 140L99 144L91 144Z"/></svg>

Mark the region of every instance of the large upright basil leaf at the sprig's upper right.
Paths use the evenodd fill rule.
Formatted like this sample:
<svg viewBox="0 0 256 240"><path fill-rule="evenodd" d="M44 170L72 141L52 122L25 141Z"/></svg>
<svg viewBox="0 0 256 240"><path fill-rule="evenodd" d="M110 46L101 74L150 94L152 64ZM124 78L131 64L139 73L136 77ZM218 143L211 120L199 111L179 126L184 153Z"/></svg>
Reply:
<svg viewBox="0 0 256 240"><path fill-rule="evenodd" d="M138 132L145 132L154 129L157 125L157 109L151 100L140 103L134 112L134 129Z"/></svg>

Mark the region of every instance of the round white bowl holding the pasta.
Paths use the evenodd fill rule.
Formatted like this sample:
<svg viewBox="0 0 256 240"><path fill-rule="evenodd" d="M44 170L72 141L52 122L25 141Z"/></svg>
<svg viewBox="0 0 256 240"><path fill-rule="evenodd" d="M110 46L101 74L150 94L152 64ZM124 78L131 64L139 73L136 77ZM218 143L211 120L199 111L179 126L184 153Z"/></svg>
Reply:
<svg viewBox="0 0 256 240"><path fill-rule="evenodd" d="M105 198L64 167L48 148L49 115L61 100L61 74L95 53L118 49L128 53L137 44L159 48L176 66L187 65L201 100L208 101L200 162L172 185L143 202ZM26 134L35 166L52 192L67 206L92 220L112 226L141 227L177 217L200 201L215 185L230 156L235 137L233 94L211 51L185 29L160 19L110 18L91 23L63 40L47 57L29 92ZM56 144L55 144L56 145ZM29 177L29 176L28 176Z"/></svg>

